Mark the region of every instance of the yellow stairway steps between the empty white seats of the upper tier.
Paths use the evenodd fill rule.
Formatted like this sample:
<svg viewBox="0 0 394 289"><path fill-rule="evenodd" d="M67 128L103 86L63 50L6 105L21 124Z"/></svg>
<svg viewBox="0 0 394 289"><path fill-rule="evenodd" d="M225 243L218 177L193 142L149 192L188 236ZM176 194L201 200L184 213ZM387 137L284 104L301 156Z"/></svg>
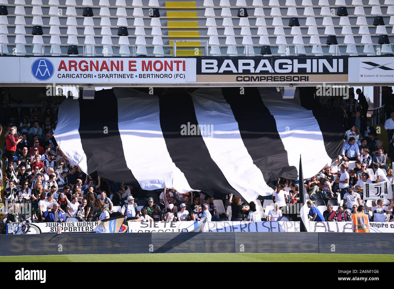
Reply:
<svg viewBox="0 0 394 289"><path fill-rule="evenodd" d="M195 1L182 2L165 2L166 9L176 9L175 11L167 11L167 21L169 45L173 46L174 40L182 40L182 38L199 39L200 32L197 21L197 10ZM182 29L182 30L178 30ZM193 30L190 30L193 29ZM187 42L177 42L177 47L186 49L177 49L177 56L199 56L202 55L201 42L199 40ZM171 49L173 56L173 49Z"/></svg>

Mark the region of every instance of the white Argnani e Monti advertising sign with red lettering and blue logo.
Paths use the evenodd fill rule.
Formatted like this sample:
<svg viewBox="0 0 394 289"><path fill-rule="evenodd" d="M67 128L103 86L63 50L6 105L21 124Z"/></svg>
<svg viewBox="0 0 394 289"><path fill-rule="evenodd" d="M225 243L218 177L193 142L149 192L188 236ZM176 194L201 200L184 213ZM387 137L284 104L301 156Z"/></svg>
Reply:
<svg viewBox="0 0 394 289"><path fill-rule="evenodd" d="M20 57L19 61L20 82L24 83L136 84L195 81L195 59Z"/></svg>

